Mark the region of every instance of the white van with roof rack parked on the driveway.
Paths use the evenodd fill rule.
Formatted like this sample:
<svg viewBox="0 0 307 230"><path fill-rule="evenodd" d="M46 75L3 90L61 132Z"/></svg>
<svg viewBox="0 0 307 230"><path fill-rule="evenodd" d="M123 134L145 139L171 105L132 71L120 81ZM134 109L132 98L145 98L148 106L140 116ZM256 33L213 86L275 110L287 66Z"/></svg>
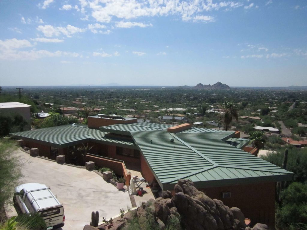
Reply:
<svg viewBox="0 0 307 230"><path fill-rule="evenodd" d="M42 184L27 183L15 188L14 203L22 213L39 213L47 224L47 230L64 226L64 208L50 189Z"/></svg>

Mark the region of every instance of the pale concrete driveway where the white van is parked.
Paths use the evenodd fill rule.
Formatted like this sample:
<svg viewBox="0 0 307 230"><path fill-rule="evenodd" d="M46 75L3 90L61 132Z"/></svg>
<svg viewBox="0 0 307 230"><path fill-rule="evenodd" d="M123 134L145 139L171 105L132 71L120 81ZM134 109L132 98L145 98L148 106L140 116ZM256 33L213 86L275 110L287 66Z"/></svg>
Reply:
<svg viewBox="0 0 307 230"><path fill-rule="evenodd" d="M101 222L102 217L118 215L120 208L131 208L128 192L116 189L95 172L31 157L20 149L13 155L23 164L21 183L37 182L50 186L52 193L57 194L64 204L64 230L82 230L91 222L92 211L99 211ZM8 214L16 215L14 207Z"/></svg>

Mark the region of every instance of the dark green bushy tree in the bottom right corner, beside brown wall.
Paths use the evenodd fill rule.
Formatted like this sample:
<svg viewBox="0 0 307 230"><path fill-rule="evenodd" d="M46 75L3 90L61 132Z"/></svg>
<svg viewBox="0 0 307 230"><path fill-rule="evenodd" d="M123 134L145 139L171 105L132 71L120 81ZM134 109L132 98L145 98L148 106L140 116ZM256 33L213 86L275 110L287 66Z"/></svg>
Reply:
<svg viewBox="0 0 307 230"><path fill-rule="evenodd" d="M292 183L281 193L282 207L276 212L279 229L300 229L307 224L307 184Z"/></svg>

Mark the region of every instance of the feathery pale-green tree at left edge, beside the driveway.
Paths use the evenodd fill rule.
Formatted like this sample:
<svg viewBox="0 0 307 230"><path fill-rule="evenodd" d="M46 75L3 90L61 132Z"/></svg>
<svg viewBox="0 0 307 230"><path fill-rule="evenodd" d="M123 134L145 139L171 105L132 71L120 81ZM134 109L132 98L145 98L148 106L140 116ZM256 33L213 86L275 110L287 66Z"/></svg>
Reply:
<svg viewBox="0 0 307 230"><path fill-rule="evenodd" d="M20 165L12 156L16 148L14 142L7 139L0 140L0 209L10 202L14 187L21 177Z"/></svg>

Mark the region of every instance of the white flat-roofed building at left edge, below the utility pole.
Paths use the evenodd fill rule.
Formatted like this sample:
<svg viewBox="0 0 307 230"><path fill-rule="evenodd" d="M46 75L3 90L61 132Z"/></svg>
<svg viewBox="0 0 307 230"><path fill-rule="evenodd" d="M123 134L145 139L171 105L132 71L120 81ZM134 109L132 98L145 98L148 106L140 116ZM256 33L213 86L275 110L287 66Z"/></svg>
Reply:
<svg viewBox="0 0 307 230"><path fill-rule="evenodd" d="M24 126L24 130L31 129L31 105L27 105L20 102L2 102L0 103L0 114L5 116L14 117L15 115L21 115L27 122Z"/></svg>

